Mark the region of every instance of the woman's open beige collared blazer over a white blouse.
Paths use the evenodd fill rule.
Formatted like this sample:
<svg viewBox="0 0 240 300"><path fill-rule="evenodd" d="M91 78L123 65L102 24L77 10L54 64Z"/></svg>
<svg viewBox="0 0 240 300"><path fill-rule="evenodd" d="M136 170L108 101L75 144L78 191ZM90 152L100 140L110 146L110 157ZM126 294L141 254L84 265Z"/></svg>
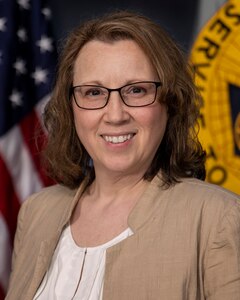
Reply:
<svg viewBox="0 0 240 300"><path fill-rule="evenodd" d="M107 251L103 299L239 300L239 197L196 179L160 182L131 212L134 234ZM6 300L33 299L82 192L56 185L25 201Z"/></svg>

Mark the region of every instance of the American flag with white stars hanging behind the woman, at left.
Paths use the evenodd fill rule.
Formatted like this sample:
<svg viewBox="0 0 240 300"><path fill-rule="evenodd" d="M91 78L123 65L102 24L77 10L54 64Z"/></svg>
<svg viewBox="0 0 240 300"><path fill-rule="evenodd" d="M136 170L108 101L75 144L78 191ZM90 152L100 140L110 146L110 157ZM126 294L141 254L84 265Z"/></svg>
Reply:
<svg viewBox="0 0 240 300"><path fill-rule="evenodd" d="M56 67L50 21L44 0L0 0L0 300L20 205L52 183L39 156L46 137L41 114Z"/></svg>

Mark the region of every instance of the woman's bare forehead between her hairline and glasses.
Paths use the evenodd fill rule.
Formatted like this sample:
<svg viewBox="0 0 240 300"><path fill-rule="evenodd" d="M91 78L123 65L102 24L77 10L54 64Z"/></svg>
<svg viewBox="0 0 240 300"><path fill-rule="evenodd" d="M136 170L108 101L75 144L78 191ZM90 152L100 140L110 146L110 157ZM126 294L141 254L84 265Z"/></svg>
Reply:
<svg viewBox="0 0 240 300"><path fill-rule="evenodd" d="M152 73L155 70L149 57L133 40L90 41L79 51L74 65L77 80L88 80L88 77L92 80L94 76L104 79L109 75L129 77L126 80L137 75L139 80L141 76L145 80L153 77Z"/></svg>

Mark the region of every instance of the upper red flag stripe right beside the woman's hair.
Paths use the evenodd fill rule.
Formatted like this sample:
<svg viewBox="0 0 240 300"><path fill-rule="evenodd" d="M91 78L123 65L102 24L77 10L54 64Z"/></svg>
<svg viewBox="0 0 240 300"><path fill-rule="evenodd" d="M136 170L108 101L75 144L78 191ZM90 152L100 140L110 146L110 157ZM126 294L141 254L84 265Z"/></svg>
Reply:
<svg viewBox="0 0 240 300"><path fill-rule="evenodd" d="M29 113L19 124L25 145L28 147L32 161L38 171L44 186L53 184L41 164L41 149L46 141L46 135L35 111Z"/></svg>

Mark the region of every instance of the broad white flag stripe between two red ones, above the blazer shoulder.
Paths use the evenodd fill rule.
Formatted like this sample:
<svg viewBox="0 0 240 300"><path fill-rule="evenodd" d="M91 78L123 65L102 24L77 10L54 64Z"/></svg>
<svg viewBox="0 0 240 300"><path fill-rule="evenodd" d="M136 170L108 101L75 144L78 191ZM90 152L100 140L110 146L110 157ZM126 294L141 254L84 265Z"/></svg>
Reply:
<svg viewBox="0 0 240 300"><path fill-rule="evenodd" d="M0 153L20 202L43 187L18 126L0 138Z"/></svg>

